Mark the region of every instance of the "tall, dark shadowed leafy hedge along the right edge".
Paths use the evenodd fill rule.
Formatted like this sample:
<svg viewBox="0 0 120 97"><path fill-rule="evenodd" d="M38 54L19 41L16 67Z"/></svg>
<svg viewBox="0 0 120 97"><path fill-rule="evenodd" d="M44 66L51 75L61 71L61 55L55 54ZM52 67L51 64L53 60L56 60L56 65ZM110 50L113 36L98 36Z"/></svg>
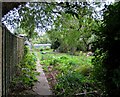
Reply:
<svg viewBox="0 0 120 97"><path fill-rule="evenodd" d="M95 42L95 78L101 83L107 97L118 97L120 93L120 2L109 5L104 11L103 24Z"/></svg>

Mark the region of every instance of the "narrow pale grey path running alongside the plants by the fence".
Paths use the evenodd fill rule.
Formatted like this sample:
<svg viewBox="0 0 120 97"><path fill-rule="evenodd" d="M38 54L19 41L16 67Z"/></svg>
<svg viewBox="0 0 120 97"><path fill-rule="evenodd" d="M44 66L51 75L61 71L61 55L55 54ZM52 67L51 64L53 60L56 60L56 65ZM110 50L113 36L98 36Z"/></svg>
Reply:
<svg viewBox="0 0 120 97"><path fill-rule="evenodd" d="M50 90L47 78L43 72L42 65L40 65L40 61L37 61L37 72L40 72L40 75L37 76L38 82L33 86L33 91L38 95L52 95Z"/></svg>

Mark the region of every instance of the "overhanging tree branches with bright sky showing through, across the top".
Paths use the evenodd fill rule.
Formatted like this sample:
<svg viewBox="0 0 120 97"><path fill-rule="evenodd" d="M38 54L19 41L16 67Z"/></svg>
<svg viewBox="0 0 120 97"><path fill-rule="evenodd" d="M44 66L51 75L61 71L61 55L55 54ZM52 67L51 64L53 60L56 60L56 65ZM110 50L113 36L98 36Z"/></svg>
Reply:
<svg viewBox="0 0 120 97"><path fill-rule="evenodd" d="M14 29L22 29L31 38L36 32L35 29L48 31L56 18L63 16L63 13L76 17L79 22L77 29L80 30L83 18L88 18L88 16L90 16L89 19L92 18L93 8L87 2L28 2L9 12L3 21ZM83 40L87 46L86 38Z"/></svg>

